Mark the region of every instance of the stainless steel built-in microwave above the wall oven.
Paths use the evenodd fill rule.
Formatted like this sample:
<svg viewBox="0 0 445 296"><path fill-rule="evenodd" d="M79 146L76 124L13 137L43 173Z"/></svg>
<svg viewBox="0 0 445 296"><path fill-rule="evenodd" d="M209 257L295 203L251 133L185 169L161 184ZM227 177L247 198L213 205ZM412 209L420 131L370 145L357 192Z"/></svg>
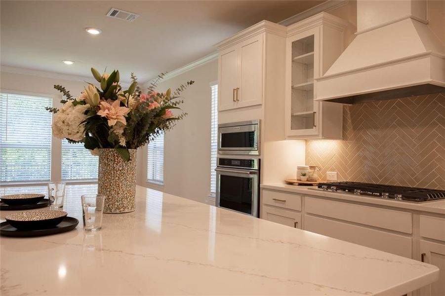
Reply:
<svg viewBox="0 0 445 296"><path fill-rule="evenodd" d="M260 120L219 124L218 153L260 155Z"/></svg>

